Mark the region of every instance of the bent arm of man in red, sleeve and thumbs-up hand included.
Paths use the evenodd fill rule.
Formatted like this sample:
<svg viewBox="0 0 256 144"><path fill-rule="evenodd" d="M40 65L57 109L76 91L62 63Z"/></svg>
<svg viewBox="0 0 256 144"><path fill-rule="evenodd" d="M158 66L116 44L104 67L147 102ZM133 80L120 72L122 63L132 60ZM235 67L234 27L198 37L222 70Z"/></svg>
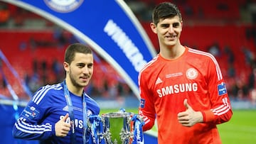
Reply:
<svg viewBox="0 0 256 144"><path fill-rule="evenodd" d="M212 60L215 61L215 59ZM233 115L220 67L216 61L212 60L207 63L209 109L194 111L185 99L186 111L178 113L178 121L183 126L193 126L196 123L220 124L229 121Z"/></svg>

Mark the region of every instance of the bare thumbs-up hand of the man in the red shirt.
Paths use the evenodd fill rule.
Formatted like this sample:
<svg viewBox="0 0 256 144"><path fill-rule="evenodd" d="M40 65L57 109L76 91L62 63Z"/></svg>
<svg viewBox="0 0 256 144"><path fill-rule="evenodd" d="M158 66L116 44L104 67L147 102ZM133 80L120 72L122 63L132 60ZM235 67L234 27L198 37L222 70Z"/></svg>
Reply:
<svg viewBox="0 0 256 144"><path fill-rule="evenodd" d="M178 122L182 126L191 127L196 123L203 122L203 114L200 111L194 111L188 104L188 99L184 99L183 104L186 107L186 111L178 113Z"/></svg>

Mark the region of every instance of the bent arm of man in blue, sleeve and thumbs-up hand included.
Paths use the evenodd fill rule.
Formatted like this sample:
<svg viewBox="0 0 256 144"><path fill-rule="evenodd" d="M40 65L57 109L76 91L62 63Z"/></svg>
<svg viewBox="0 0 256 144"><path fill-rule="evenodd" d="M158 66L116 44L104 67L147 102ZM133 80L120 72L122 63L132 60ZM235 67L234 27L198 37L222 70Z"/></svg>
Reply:
<svg viewBox="0 0 256 144"><path fill-rule="evenodd" d="M56 123L54 121L57 117L49 117L49 109L52 107L49 99L50 89L53 89L53 87L46 86L38 89L31 101L28 102L14 124L14 138L26 140L48 139L51 136L65 136L66 132L64 131L70 130L70 124L64 122L68 116L64 116Z"/></svg>

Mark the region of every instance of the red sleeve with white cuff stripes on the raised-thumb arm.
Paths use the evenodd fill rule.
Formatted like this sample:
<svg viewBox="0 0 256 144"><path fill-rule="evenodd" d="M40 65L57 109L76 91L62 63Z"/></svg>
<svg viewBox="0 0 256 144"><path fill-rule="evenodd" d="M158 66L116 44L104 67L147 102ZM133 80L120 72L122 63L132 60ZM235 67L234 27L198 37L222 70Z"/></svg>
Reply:
<svg viewBox="0 0 256 144"><path fill-rule="evenodd" d="M208 89L211 108L202 111L203 121L214 124L225 123L233 115L228 92L217 60L212 57L208 63Z"/></svg>

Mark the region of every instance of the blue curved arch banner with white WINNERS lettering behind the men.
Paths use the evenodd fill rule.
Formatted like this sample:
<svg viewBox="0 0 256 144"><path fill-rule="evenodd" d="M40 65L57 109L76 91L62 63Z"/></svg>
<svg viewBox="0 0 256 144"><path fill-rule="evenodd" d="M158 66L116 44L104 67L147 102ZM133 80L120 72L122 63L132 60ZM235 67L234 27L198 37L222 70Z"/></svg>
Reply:
<svg viewBox="0 0 256 144"><path fill-rule="evenodd" d="M2 0L53 21L114 67L139 98L139 70L156 51L122 0ZM95 76L97 77L97 76Z"/></svg>

